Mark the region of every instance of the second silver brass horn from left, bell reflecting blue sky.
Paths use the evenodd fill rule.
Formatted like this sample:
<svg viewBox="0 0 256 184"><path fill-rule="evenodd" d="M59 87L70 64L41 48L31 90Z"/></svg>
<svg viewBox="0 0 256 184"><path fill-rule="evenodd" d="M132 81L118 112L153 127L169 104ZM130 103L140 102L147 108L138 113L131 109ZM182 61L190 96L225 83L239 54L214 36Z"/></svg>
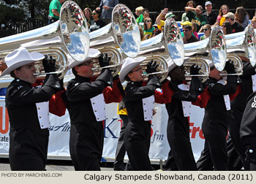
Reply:
<svg viewBox="0 0 256 184"><path fill-rule="evenodd" d="M135 58L140 50L138 24L132 11L124 4L114 7L111 23L92 31L89 35L91 48L110 55L110 69L115 71L113 76L120 71L122 58ZM99 65L95 65L94 71L100 71Z"/></svg>

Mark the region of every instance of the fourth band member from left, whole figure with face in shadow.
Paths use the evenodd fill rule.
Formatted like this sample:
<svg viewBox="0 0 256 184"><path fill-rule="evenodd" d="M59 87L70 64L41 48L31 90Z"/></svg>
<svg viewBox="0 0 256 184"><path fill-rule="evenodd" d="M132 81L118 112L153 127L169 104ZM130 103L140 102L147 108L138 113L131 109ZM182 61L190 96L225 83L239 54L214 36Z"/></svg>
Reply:
<svg viewBox="0 0 256 184"><path fill-rule="evenodd" d="M198 77L192 77L191 85L184 83L184 66L176 66L173 61L168 61L170 81L166 80L169 88L162 88L165 96L170 101L165 104L168 113L167 140L170 145L165 170L191 171L197 170L195 158L189 139L188 117L191 115L192 101L203 91ZM190 74L198 74L199 67L192 65Z"/></svg>

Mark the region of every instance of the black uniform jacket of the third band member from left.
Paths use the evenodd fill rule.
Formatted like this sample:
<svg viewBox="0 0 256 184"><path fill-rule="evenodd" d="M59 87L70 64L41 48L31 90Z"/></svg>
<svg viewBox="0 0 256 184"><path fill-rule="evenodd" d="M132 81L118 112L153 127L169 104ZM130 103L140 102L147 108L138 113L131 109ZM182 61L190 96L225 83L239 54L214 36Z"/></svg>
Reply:
<svg viewBox="0 0 256 184"><path fill-rule="evenodd" d="M130 81L125 88L127 93L124 98L124 104L127 108L129 121L132 123L139 122L143 123L143 104L142 99L154 95L156 88L161 86L156 76L150 75L148 77L148 83L146 86L142 86L142 82Z"/></svg>

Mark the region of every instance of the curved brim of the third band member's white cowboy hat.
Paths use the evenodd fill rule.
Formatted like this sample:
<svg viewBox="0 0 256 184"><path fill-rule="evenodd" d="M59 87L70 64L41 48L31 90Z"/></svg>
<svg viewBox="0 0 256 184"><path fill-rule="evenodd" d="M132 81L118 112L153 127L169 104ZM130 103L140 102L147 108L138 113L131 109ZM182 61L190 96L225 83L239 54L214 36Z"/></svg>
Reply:
<svg viewBox="0 0 256 184"><path fill-rule="evenodd" d="M127 76L127 74L132 70L134 69L136 66L138 66L139 64L141 64L145 59L146 57L138 57L138 58L132 58L134 61L130 64L124 64L122 67L121 67L121 71L119 72L119 79L121 81L121 83L124 83L124 78L125 76Z"/></svg>

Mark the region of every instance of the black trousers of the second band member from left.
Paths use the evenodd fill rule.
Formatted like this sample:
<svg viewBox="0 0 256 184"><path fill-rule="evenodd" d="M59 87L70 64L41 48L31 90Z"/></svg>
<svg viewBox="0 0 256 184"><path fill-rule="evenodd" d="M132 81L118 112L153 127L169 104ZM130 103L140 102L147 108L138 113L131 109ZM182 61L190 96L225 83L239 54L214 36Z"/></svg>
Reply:
<svg viewBox="0 0 256 184"><path fill-rule="evenodd" d="M69 151L76 171L100 171L99 163L103 150L102 122L94 129L86 123L71 124Z"/></svg>

